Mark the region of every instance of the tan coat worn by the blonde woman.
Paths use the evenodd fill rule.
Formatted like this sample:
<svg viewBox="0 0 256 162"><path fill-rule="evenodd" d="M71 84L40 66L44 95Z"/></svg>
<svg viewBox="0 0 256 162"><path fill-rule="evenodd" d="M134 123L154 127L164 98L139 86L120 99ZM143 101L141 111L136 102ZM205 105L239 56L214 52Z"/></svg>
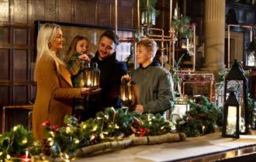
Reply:
<svg viewBox="0 0 256 162"><path fill-rule="evenodd" d="M33 106L33 136L37 140L45 137L41 124L50 120L51 125L63 127L64 116L71 115L74 98L82 98L81 89L75 89L71 75L60 65L59 73L50 56L43 55L36 65L37 92Z"/></svg>

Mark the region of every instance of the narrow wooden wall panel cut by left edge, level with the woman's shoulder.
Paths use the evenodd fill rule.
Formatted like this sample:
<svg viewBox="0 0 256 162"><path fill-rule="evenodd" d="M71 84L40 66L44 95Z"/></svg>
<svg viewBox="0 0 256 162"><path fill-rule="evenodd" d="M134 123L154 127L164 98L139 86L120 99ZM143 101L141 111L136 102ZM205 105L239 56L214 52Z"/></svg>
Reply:
<svg viewBox="0 0 256 162"><path fill-rule="evenodd" d="M0 81L9 80L9 49L0 49Z"/></svg>

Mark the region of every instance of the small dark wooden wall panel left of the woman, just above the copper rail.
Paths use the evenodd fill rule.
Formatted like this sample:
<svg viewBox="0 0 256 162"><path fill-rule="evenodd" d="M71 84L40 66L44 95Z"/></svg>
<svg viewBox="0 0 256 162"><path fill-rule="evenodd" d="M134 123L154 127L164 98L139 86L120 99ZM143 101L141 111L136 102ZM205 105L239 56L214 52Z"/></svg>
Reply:
<svg viewBox="0 0 256 162"><path fill-rule="evenodd" d="M14 103L22 104L28 101L27 86L14 86ZM26 102L24 102L26 101Z"/></svg>

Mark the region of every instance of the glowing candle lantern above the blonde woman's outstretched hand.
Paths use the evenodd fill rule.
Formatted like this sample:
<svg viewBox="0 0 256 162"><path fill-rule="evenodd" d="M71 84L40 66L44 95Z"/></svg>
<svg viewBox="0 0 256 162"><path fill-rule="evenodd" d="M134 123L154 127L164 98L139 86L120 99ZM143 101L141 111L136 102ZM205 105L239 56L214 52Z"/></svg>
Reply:
<svg viewBox="0 0 256 162"><path fill-rule="evenodd" d="M99 88L99 74L98 65L96 62L88 63L88 68L84 71L84 84L85 87L98 89Z"/></svg>

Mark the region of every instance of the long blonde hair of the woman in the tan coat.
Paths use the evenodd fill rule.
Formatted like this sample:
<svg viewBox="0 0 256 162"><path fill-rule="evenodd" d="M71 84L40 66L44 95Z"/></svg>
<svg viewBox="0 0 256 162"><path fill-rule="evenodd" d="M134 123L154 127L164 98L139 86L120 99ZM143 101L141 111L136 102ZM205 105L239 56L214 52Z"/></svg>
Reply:
<svg viewBox="0 0 256 162"><path fill-rule="evenodd" d="M61 29L59 25L46 23L40 27L40 31L37 36L37 56L36 56L36 65L37 62L41 59L43 55L50 56L54 59L57 73L59 73L59 65L64 65L64 62L58 57L58 54L50 50L49 44L56 38L57 29ZM36 81L36 74L34 75L34 80Z"/></svg>

